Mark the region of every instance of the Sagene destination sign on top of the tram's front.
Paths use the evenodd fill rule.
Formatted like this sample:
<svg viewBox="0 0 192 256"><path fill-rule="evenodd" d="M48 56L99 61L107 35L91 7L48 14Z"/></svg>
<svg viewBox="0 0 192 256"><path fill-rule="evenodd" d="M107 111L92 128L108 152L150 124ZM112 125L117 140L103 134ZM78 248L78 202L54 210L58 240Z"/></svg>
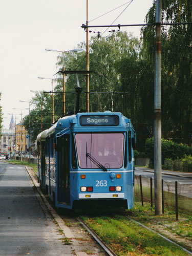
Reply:
<svg viewBox="0 0 192 256"><path fill-rule="evenodd" d="M117 115L86 115L80 117L80 125L82 126L117 126L118 124L119 117Z"/></svg>

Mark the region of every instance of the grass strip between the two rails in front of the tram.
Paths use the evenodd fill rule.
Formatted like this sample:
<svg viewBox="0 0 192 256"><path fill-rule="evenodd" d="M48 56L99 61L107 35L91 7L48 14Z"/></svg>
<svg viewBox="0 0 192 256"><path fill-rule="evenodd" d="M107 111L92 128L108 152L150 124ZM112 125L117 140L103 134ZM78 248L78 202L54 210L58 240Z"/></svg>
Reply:
<svg viewBox="0 0 192 256"><path fill-rule="evenodd" d="M81 216L117 255L188 255L180 247L120 215Z"/></svg>

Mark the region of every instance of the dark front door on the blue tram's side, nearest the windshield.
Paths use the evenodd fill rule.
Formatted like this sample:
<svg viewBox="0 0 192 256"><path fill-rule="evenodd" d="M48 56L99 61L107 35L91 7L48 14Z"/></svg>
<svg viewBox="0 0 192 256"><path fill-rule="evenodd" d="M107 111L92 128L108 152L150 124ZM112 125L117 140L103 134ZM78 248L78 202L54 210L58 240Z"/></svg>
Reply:
<svg viewBox="0 0 192 256"><path fill-rule="evenodd" d="M70 204L70 136L58 138L58 203Z"/></svg>

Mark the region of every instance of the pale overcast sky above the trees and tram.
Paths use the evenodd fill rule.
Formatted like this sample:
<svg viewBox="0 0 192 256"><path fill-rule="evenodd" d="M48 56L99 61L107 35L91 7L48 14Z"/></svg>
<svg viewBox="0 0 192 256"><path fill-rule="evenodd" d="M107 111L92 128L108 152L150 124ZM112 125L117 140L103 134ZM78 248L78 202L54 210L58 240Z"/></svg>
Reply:
<svg viewBox="0 0 192 256"><path fill-rule="evenodd" d="M153 0L88 0L89 25L111 25L120 14L114 25L143 24L152 4ZM28 102L34 96L31 90L52 90L50 79L37 78L54 78L58 71L58 53L45 49L78 48L80 42L86 41L86 32L81 28L86 19L87 0L0 1L0 105L4 128L9 128L10 114L16 117L16 123L21 113L23 117L29 114ZM98 30L102 33L105 29L92 29ZM140 36L140 27L121 28L124 30ZM94 35L89 33L89 38ZM107 35L109 32L103 34Z"/></svg>

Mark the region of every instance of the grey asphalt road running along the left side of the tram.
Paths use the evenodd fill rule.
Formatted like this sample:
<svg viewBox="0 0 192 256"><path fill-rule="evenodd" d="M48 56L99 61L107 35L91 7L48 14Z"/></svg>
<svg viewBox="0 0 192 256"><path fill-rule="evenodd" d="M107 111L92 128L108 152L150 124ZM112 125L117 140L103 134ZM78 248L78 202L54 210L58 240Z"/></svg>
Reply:
<svg viewBox="0 0 192 256"><path fill-rule="evenodd" d="M1 256L72 255L39 198L25 166L0 162Z"/></svg>

